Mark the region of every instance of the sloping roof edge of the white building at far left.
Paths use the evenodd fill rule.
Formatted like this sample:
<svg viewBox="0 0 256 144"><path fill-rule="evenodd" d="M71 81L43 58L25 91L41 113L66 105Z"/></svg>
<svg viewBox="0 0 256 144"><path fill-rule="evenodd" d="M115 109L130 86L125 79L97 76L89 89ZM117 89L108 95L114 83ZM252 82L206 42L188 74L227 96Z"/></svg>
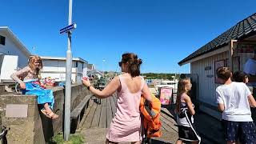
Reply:
<svg viewBox="0 0 256 144"><path fill-rule="evenodd" d="M9 35L10 38L14 40L14 42L17 42L20 46L21 50L27 55L30 56L30 51L26 48L26 46L18 39L18 37L9 29L8 26L0 26L0 31L6 32L6 34Z"/></svg>

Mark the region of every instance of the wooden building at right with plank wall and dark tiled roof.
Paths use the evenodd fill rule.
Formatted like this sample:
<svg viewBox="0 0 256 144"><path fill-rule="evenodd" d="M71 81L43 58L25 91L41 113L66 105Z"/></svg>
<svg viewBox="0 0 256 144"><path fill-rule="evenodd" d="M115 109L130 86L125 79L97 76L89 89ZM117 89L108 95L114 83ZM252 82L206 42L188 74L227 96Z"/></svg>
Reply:
<svg viewBox="0 0 256 144"><path fill-rule="evenodd" d="M230 70L243 70L245 62L253 58L256 50L256 14L238 22L217 38L208 42L178 62L180 66L190 63L190 73L196 75L197 95L200 110L221 118L216 104L216 87L219 86L215 72L219 66ZM256 69L256 67L255 67ZM194 84L193 84L194 86Z"/></svg>

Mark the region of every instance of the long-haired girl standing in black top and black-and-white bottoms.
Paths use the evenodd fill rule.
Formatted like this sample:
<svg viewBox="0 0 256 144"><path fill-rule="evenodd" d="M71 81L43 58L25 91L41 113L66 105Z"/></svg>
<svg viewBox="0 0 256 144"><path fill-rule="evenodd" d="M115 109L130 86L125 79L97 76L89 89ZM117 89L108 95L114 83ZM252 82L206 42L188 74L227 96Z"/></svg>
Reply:
<svg viewBox="0 0 256 144"><path fill-rule="evenodd" d="M201 138L194 126L194 104L191 102L190 96L188 95L191 87L190 78L182 78L178 82L175 108L178 123L178 140L176 144L182 144L183 141L192 143L201 142Z"/></svg>

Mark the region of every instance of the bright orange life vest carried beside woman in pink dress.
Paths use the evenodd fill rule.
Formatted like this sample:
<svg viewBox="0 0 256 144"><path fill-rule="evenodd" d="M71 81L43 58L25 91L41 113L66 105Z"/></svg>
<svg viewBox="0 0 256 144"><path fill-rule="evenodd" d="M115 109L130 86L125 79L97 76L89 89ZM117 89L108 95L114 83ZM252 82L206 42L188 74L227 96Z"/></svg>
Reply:
<svg viewBox="0 0 256 144"><path fill-rule="evenodd" d="M151 94L151 98L152 102L147 102L146 99L142 97L139 106L144 117L143 128L146 130L146 136L148 138L160 137L162 135L160 131L160 127L162 126L160 122L161 102L154 94Z"/></svg>

